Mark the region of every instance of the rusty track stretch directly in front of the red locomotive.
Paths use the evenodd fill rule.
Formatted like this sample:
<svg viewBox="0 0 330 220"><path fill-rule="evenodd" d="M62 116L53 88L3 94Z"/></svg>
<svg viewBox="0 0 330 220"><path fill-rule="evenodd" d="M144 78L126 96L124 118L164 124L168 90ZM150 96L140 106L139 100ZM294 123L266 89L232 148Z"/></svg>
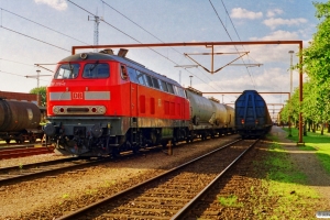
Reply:
<svg viewBox="0 0 330 220"><path fill-rule="evenodd" d="M44 177L55 175L61 172L73 169L82 169L91 165L105 163L103 160L86 160L69 157L63 160L55 160L48 162L40 162L35 164L18 165L13 167L0 168L0 185L9 184L12 182L24 182L31 178Z"/></svg>

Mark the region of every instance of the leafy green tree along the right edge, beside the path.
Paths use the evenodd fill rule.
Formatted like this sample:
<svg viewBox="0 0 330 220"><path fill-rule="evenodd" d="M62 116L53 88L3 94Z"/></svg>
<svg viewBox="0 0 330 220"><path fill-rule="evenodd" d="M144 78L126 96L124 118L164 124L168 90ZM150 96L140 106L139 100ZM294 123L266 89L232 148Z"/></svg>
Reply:
<svg viewBox="0 0 330 220"><path fill-rule="evenodd" d="M302 110L304 117L322 124L330 120L330 1L314 6L320 23L309 46L302 50L301 65L310 79Z"/></svg>

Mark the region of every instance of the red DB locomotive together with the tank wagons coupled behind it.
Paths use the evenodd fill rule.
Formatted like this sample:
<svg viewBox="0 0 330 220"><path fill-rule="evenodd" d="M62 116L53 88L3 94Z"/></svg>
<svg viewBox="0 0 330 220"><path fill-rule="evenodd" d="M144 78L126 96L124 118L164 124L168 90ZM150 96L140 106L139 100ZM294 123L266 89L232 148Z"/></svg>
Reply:
<svg viewBox="0 0 330 220"><path fill-rule="evenodd" d="M127 52L81 53L58 63L44 127L57 152L117 156L233 129L233 110L228 117L226 107L127 58Z"/></svg>

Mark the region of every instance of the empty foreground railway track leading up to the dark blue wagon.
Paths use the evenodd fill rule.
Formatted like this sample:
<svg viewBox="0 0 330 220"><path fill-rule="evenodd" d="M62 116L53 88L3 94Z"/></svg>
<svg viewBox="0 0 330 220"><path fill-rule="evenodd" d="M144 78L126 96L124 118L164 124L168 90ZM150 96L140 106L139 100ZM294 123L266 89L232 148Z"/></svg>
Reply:
<svg viewBox="0 0 330 220"><path fill-rule="evenodd" d="M58 220L182 219L256 142L235 141Z"/></svg>

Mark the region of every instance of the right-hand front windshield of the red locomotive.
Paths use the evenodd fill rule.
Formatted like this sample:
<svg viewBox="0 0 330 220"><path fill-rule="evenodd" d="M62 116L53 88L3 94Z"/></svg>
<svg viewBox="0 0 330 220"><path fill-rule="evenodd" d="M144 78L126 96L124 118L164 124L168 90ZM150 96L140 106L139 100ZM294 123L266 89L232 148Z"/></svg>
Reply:
<svg viewBox="0 0 330 220"><path fill-rule="evenodd" d="M110 76L109 64L86 64L84 67L84 78L108 78Z"/></svg>

